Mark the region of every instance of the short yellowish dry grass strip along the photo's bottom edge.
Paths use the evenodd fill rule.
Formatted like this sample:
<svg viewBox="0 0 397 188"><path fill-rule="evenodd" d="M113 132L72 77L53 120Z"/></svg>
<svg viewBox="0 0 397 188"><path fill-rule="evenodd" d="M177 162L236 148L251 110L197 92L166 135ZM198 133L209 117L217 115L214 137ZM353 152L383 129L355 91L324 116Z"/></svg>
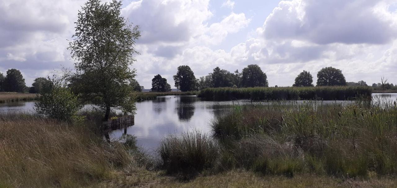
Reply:
<svg viewBox="0 0 397 188"><path fill-rule="evenodd" d="M218 175L201 175L191 181L179 181L161 173L139 172L118 174L112 181L101 182L95 188L395 188L393 178L340 179L313 174L262 176L243 170L232 170Z"/></svg>

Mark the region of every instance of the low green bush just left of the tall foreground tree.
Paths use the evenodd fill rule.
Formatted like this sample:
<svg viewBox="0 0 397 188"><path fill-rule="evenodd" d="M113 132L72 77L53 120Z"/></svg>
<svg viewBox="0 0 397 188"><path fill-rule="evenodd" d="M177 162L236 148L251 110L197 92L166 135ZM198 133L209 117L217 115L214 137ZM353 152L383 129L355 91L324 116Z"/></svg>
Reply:
<svg viewBox="0 0 397 188"><path fill-rule="evenodd" d="M70 88L59 79L49 79L48 89L40 93L35 103L35 110L38 114L46 115L60 121L73 121L76 113L83 107L77 96ZM42 90L44 91L44 90Z"/></svg>

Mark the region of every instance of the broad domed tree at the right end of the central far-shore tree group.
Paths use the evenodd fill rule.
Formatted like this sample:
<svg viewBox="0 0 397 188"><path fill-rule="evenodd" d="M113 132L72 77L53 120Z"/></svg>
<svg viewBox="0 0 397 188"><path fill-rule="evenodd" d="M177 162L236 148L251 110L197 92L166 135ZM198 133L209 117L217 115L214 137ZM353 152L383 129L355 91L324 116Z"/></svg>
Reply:
<svg viewBox="0 0 397 188"><path fill-rule="evenodd" d="M241 72L241 86L242 87L268 87L268 77L256 64L248 65Z"/></svg>

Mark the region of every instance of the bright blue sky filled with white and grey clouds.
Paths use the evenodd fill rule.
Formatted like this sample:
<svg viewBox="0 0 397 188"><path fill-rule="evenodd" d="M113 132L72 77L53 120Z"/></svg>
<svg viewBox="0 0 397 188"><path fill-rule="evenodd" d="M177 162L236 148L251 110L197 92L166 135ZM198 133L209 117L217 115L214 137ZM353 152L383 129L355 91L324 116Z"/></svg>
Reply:
<svg viewBox="0 0 397 188"><path fill-rule="evenodd" d="M73 68L68 40L84 3L0 1L0 72L19 69L31 86ZM269 86L291 86L303 70L315 83L329 66L347 82L397 83L397 0L123 0L122 8L141 30L131 68L147 89L157 74L174 88L179 65L198 78L258 64Z"/></svg>

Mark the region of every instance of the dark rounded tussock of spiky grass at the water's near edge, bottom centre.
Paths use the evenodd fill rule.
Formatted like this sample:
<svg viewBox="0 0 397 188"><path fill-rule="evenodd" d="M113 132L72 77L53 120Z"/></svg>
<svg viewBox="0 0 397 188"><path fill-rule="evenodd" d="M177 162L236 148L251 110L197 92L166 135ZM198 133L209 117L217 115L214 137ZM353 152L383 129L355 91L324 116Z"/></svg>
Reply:
<svg viewBox="0 0 397 188"><path fill-rule="evenodd" d="M168 136L160 142L158 154L160 165L168 174L189 178L215 166L219 147L210 136L195 131Z"/></svg>

